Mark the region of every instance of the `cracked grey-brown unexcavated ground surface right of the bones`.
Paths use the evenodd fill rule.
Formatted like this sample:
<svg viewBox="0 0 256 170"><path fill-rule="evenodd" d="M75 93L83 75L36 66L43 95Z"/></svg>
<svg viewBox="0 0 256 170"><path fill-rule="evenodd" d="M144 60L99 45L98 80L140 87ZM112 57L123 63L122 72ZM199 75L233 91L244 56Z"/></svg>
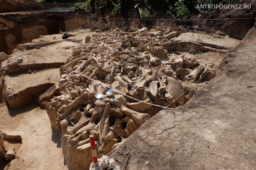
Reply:
<svg viewBox="0 0 256 170"><path fill-rule="evenodd" d="M250 33L221 62L217 76L186 104L188 111L160 111L111 157L125 162L130 155L128 170L254 170L255 37Z"/></svg>

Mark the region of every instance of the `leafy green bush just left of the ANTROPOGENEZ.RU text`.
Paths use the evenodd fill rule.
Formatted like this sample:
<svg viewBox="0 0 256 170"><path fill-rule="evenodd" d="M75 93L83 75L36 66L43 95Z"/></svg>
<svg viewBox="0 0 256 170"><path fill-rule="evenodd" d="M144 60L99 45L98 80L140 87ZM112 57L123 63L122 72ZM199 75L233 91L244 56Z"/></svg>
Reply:
<svg viewBox="0 0 256 170"><path fill-rule="evenodd" d="M167 14L172 15L177 20L187 20L191 19L191 14L189 9L184 5L183 0L179 0L175 3L175 8L169 7L170 11Z"/></svg>

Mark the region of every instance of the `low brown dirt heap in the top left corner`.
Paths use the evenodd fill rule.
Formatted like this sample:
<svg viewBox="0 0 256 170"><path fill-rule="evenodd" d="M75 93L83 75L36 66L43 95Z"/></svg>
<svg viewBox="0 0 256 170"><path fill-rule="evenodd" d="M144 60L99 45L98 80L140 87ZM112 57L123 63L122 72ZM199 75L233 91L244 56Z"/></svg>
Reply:
<svg viewBox="0 0 256 170"><path fill-rule="evenodd" d="M32 11L44 8L35 0L0 0L0 12Z"/></svg>

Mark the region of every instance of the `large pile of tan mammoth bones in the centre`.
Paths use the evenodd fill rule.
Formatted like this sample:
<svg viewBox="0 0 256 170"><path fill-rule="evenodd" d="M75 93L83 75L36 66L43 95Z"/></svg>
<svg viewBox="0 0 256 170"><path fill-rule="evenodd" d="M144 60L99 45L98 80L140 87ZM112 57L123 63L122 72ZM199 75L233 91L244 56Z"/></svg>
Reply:
<svg viewBox="0 0 256 170"><path fill-rule="evenodd" d="M169 34L116 28L87 36L85 45L73 51L60 67L61 96L47 103L52 128L58 129L64 150L67 146L82 150L93 134L99 155L106 154L163 109L155 105L184 105L180 82L195 83L205 74L214 75L212 65L182 55L169 57L174 43Z"/></svg>

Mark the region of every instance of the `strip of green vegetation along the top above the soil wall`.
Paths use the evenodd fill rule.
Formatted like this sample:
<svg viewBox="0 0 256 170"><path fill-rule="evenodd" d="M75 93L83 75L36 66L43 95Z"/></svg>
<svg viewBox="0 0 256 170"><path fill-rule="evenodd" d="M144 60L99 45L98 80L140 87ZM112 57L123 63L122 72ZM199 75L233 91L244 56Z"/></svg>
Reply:
<svg viewBox="0 0 256 170"><path fill-rule="evenodd" d="M198 14L199 12L212 15L218 8L197 8L201 5L228 5L228 4L242 4L245 3L245 0L44 0L44 2L66 2L66 1L76 1L73 6L73 9L83 9L90 14L95 14L97 16L97 10L99 8L105 8L107 11L111 9L111 15L119 14L122 11L122 8L129 8L135 6L139 3L140 17L142 19L150 19L152 15L150 11L154 9L162 8L161 10L171 15L174 19L177 20L189 20L193 15ZM256 2L256 0L252 0ZM132 4L131 4L132 3ZM145 4L147 8L145 7ZM150 8L150 11L148 10ZM126 12L124 12L126 13ZM213 15L212 15L213 16ZM93 18L93 17L92 17ZM183 22L183 21L181 21ZM186 21L185 21L186 22Z"/></svg>

